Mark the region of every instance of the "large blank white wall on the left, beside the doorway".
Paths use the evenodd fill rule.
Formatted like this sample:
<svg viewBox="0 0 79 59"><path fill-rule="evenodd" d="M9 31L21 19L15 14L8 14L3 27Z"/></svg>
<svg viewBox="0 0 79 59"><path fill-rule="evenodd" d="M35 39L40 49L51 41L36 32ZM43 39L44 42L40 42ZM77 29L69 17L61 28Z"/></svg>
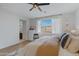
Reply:
<svg viewBox="0 0 79 59"><path fill-rule="evenodd" d="M0 10L0 48L19 41L19 18Z"/></svg>

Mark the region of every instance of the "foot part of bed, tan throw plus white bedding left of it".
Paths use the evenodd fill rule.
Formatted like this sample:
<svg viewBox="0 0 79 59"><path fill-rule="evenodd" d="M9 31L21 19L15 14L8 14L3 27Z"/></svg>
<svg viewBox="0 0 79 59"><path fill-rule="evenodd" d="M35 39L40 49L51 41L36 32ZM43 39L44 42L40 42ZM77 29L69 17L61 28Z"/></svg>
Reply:
<svg viewBox="0 0 79 59"><path fill-rule="evenodd" d="M17 55L24 56L58 56L59 44L55 36L44 36L27 44Z"/></svg>

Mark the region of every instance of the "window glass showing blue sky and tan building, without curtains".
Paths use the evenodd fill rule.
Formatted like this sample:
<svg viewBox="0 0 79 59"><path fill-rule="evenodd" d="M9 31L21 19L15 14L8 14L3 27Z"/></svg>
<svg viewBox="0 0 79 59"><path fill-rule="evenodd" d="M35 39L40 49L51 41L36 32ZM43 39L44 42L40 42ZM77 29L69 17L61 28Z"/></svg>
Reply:
<svg viewBox="0 0 79 59"><path fill-rule="evenodd" d="M41 32L44 32L44 33L52 32L52 20L51 19L41 20L40 26L41 26Z"/></svg>

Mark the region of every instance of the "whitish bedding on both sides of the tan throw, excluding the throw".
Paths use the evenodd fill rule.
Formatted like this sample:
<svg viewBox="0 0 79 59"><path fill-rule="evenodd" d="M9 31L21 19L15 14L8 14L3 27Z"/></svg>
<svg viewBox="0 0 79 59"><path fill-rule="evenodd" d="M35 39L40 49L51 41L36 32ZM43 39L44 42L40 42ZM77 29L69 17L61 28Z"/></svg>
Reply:
<svg viewBox="0 0 79 59"><path fill-rule="evenodd" d="M58 39L56 36L41 37L40 39L37 39L37 40L27 44L24 48L17 50L16 56L35 56L37 48L40 45L45 44L45 42L51 42L54 45L54 44L58 43ZM79 54L71 53L68 50L63 49L60 46L59 56L79 56Z"/></svg>

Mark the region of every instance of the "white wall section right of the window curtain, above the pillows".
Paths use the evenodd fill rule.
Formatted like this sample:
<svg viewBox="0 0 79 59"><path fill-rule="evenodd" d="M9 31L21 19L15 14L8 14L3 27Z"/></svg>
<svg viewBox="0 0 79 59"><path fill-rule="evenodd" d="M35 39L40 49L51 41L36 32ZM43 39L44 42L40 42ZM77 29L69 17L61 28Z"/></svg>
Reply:
<svg viewBox="0 0 79 59"><path fill-rule="evenodd" d="M63 31L75 29L75 24L76 24L75 12L63 14L61 19L62 19L62 29L63 29Z"/></svg>

